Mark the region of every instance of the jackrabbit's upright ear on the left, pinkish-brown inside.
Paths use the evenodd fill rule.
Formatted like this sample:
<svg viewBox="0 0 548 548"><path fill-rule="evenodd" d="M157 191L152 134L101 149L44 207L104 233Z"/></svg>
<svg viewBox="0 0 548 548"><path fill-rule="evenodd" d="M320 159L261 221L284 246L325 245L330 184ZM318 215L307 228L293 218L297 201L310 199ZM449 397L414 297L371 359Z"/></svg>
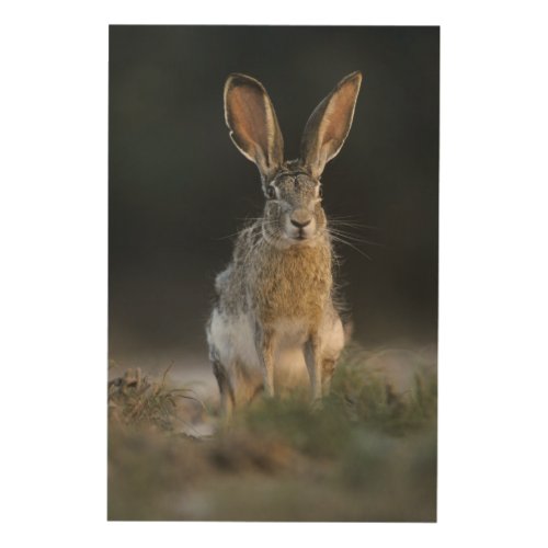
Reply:
<svg viewBox="0 0 548 548"><path fill-rule="evenodd" d="M263 178L273 175L284 161L284 139L263 84L246 75L230 75L225 119L240 152L256 163Z"/></svg>

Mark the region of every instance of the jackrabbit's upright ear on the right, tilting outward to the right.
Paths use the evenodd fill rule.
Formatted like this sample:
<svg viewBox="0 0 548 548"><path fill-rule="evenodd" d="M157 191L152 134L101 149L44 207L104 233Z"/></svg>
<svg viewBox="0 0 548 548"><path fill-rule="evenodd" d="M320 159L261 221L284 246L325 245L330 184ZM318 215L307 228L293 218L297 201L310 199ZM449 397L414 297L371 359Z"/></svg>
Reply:
<svg viewBox="0 0 548 548"><path fill-rule="evenodd" d="M341 150L352 126L361 83L359 71L344 77L308 118L300 158L313 176L320 176L326 163Z"/></svg>

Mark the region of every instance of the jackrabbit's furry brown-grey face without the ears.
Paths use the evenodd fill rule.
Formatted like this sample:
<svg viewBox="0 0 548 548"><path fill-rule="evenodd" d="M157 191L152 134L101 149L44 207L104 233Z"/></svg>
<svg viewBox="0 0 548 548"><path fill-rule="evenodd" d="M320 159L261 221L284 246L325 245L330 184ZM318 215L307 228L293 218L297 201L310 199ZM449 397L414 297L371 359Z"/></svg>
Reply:
<svg viewBox="0 0 548 548"><path fill-rule="evenodd" d="M326 229L321 185L307 173L283 172L265 187L263 233L281 244L309 244Z"/></svg>

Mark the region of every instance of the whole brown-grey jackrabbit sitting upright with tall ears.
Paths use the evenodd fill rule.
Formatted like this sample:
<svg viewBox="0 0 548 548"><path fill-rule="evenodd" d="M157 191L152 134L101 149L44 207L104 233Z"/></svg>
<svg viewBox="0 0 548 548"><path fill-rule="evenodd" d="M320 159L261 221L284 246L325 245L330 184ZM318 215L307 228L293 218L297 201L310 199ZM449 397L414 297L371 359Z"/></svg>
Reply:
<svg viewBox="0 0 548 548"><path fill-rule="evenodd" d="M308 119L300 158L284 161L264 87L246 75L227 79L230 137L259 168L266 203L263 217L239 232L215 281L207 342L226 416L261 390L274 396L307 377L313 400L329 391L344 331L332 297L320 175L350 132L361 82L356 71L338 83Z"/></svg>

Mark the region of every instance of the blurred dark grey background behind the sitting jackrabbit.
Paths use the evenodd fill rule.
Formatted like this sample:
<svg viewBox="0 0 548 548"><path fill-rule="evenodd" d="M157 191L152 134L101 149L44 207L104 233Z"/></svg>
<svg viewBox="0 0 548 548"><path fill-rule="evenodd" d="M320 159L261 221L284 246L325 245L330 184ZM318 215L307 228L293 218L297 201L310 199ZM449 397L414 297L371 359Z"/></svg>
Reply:
<svg viewBox="0 0 548 548"><path fill-rule="evenodd" d="M424 345L437 332L438 27L111 26L110 356L207 357L204 324L232 235L261 214L259 173L228 137L222 87L266 87L286 158L346 73L364 83L324 208L374 228L339 281L366 346ZM355 243L355 242L354 242Z"/></svg>

